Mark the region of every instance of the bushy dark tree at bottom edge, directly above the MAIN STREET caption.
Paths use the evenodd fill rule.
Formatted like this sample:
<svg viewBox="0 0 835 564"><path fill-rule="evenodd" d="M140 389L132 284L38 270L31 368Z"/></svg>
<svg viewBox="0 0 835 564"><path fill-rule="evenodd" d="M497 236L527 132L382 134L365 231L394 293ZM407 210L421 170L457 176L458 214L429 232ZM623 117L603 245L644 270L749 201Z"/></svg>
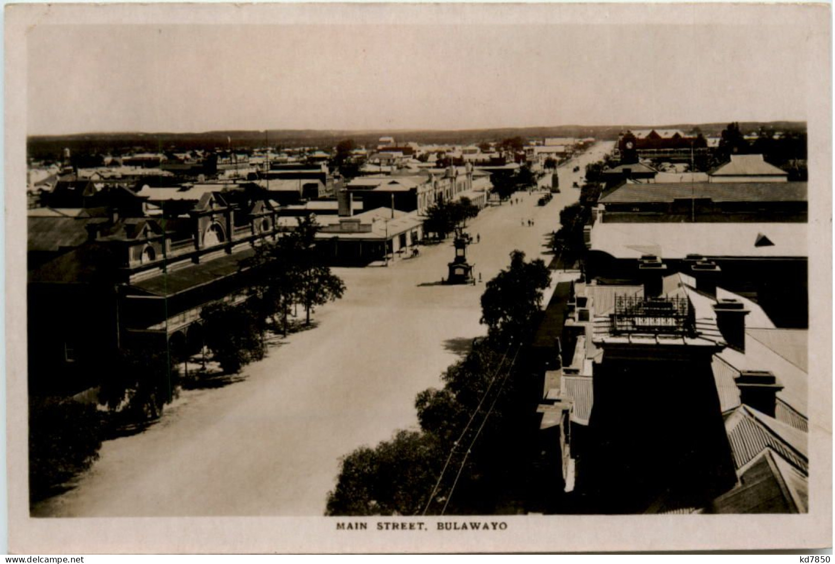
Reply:
<svg viewBox="0 0 835 564"><path fill-rule="evenodd" d="M342 460L337 487L327 494L326 515L416 515L446 453L434 436L397 431L391 441L362 447Z"/></svg>

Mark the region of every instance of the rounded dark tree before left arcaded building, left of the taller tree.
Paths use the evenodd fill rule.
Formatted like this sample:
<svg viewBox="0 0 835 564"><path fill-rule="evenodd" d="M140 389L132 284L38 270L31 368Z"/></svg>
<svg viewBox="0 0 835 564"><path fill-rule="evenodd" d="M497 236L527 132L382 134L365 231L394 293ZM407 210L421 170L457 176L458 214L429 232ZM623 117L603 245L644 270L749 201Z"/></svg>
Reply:
<svg viewBox="0 0 835 564"><path fill-rule="evenodd" d="M205 305L200 318L205 344L226 372L234 374L253 360L264 358L261 327L250 309L218 302Z"/></svg>

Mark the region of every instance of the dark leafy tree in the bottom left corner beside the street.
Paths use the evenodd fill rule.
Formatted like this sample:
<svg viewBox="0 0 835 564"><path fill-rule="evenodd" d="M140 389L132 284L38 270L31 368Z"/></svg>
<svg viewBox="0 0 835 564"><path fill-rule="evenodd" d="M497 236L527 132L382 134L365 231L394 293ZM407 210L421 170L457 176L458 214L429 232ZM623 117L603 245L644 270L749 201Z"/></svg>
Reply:
<svg viewBox="0 0 835 564"><path fill-rule="evenodd" d="M57 398L29 399L29 499L87 470L99 458L104 421L94 405Z"/></svg>

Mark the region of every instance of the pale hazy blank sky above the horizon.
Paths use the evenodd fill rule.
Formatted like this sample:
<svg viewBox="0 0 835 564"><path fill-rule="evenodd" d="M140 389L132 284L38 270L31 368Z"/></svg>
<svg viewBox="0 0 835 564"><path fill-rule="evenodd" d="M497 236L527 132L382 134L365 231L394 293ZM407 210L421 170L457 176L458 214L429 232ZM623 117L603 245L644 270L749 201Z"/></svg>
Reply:
<svg viewBox="0 0 835 564"><path fill-rule="evenodd" d="M40 25L28 134L805 120L806 30Z"/></svg>

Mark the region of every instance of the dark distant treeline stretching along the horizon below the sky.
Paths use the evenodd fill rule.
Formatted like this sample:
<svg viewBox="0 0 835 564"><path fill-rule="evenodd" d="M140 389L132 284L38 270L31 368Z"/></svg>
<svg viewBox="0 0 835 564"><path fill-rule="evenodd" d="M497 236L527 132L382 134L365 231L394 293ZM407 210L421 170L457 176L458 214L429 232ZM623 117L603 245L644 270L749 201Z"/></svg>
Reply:
<svg viewBox="0 0 835 564"><path fill-rule="evenodd" d="M718 136L727 123L663 125L656 128L681 129L685 133L698 128L706 137ZM776 131L805 132L804 122L741 122L744 132L757 131L762 126ZM33 135L27 139L30 159L59 159L63 149L73 154L127 154L132 151L162 152L171 149L255 149L267 144L271 147L294 148L314 146L330 148L339 141L352 138L357 145L376 146L382 136L393 136L398 142L420 144L478 144L501 141L504 138L528 139L546 137L594 137L615 139L626 129L649 129L643 125L579 126L536 128L492 128L463 130L319 130L275 129L265 131L209 131L205 133L78 133L73 135Z"/></svg>

